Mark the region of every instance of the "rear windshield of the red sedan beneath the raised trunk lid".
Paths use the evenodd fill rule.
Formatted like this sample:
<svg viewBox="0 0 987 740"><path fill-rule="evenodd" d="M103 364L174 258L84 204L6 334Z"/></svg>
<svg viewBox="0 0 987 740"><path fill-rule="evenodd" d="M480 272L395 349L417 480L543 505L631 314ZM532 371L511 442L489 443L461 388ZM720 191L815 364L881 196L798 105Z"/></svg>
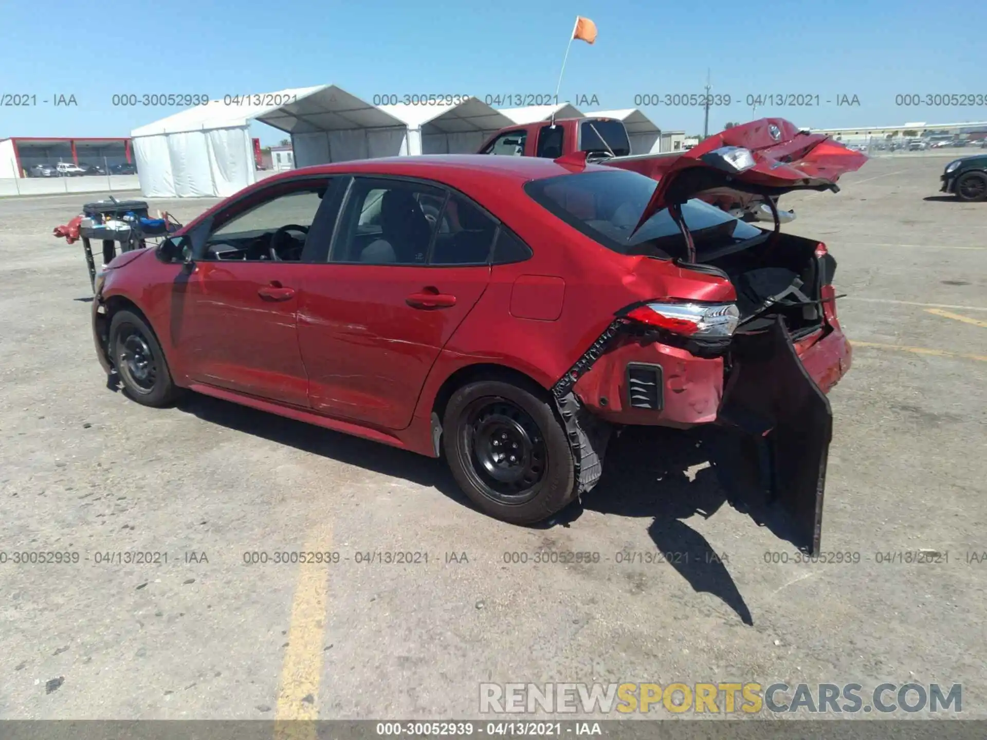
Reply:
<svg viewBox="0 0 987 740"><path fill-rule="evenodd" d="M614 170L535 180L524 189L549 212L609 250L621 255L685 258L685 238L667 208L651 216L631 237L656 186L644 175ZM682 217L692 234L697 261L714 250L767 234L698 199L682 205Z"/></svg>

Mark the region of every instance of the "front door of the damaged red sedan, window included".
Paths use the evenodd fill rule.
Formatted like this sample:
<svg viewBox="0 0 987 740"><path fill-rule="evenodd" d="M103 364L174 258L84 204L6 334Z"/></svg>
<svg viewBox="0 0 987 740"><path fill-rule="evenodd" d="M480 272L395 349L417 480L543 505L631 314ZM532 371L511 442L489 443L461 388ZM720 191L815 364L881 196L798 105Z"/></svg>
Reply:
<svg viewBox="0 0 987 740"><path fill-rule="evenodd" d="M188 281L176 284L192 381L308 407L298 304L309 231L333 215L326 189L325 179L280 182L216 214Z"/></svg>

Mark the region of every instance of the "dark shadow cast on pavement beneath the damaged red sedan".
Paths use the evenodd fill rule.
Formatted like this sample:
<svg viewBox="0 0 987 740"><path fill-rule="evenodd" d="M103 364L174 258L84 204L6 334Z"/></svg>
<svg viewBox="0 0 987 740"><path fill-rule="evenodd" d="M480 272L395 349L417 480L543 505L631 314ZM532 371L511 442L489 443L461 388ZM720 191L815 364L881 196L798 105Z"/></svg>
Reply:
<svg viewBox="0 0 987 740"><path fill-rule="evenodd" d="M183 397L177 406L203 421L434 487L476 510L440 460L199 394ZM733 481L743 480L749 472L739 475L725 464L725 458L718 453L719 434L714 428L680 431L627 427L620 437L611 440L603 477L596 487L581 502L573 502L536 527L568 527L585 509L623 517L650 517L647 533L654 542L655 555L673 567L697 593L715 595L745 625L753 625L750 610L727 570L728 556L717 553L705 537L684 521L697 514L708 519L728 503L787 539L784 523L772 511L752 505L749 498L736 492Z"/></svg>

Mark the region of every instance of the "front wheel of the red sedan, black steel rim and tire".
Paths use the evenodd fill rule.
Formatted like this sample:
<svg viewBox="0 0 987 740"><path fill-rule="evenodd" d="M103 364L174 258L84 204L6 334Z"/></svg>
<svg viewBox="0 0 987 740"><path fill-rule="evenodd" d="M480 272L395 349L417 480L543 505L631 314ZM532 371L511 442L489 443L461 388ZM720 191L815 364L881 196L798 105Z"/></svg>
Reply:
<svg viewBox="0 0 987 740"><path fill-rule="evenodd" d="M110 322L110 358L123 389L143 406L163 407L180 395L158 337L138 314L121 310Z"/></svg>

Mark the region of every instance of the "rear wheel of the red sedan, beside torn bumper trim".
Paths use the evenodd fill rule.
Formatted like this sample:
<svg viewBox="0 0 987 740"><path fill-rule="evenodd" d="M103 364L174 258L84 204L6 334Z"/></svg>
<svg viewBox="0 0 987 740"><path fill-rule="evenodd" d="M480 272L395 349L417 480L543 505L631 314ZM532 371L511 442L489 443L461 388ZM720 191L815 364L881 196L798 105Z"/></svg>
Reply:
<svg viewBox="0 0 987 740"><path fill-rule="evenodd" d="M535 524L575 497L569 441L547 399L503 381L469 383L449 399L442 426L452 475L484 513Z"/></svg>

